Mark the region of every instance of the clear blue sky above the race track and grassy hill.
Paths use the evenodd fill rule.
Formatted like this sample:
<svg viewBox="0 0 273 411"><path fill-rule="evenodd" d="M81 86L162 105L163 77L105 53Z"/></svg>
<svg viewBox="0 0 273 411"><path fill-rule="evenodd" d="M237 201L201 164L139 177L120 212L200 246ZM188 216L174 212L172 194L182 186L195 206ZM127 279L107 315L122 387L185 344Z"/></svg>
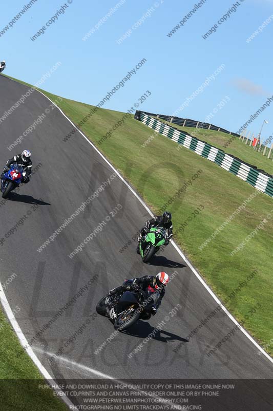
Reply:
<svg viewBox="0 0 273 411"><path fill-rule="evenodd" d="M98 30L91 32L118 3L120 7L104 18ZM37 0L13 27L3 32L28 4L27 0L25 3L23 0L4 2L0 18L0 60L6 60L6 74L31 84L59 61L61 65L42 88L96 105L145 58L146 63L104 108L127 111L149 90L151 96L140 105L144 111L169 115L183 106L177 114L179 117L205 121L213 113L213 124L236 132L273 95L273 1L239 0L236 11L229 12L227 20L218 24L216 32L204 40L202 35L235 3L206 0L183 27L167 36L194 9L198 0L67 1L64 13L59 13L45 33L32 41L31 37L46 26L65 2ZM247 43L246 39L270 16L272 21ZM142 23L132 29L141 17ZM118 44L126 32L128 37ZM83 41L87 33L90 36ZM183 105L221 65L224 69L215 79L187 106ZM263 128L263 138L272 135L272 110L273 102L248 130L259 133L265 119L269 123Z"/></svg>

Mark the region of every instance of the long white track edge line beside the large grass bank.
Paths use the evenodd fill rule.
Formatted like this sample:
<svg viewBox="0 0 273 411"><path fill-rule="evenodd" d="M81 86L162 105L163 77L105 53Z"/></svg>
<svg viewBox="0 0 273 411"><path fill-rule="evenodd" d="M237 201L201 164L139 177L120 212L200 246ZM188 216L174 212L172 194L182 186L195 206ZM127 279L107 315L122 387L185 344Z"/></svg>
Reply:
<svg viewBox="0 0 273 411"><path fill-rule="evenodd" d="M136 196L136 198L141 202L142 206L145 208L146 211L148 211L148 213L154 217L154 214L152 213L152 211L149 209L148 206L146 206L146 204L144 203L144 201L139 197L139 195L132 189L132 187L130 186L130 184L124 180L124 178L119 174L118 170L115 169L115 167L107 160L106 157L103 156L103 154L98 150L98 148L81 132L81 130L79 130L76 125L70 120L69 117L67 117L67 115L64 113L64 111L62 111L48 96L46 96L43 92L41 92L40 90L37 90L38 92L40 92L40 94L42 94L43 96L45 96L49 101L51 101L51 103L53 103L61 112L61 114L63 116L66 117L66 119L76 128L76 130L78 130L78 132L82 135L82 137L84 137L89 144L92 145L92 147L94 148L94 150L96 150L96 152L103 158L104 161L107 162L107 164L111 167L112 170L114 170L117 175L119 176L119 178L124 182L125 185L127 185L127 187L131 190L131 192L134 194L134 196ZM192 263L187 259L187 257L184 255L184 253L179 249L179 247L175 244L175 242L173 240L171 240L171 243L173 245L173 247L176 249L176 251L178 252L178 254L180 254L180 256L183 258L183 260L185 261L185 263L188 265L188 267L191 268L192 272L195 274L195 276L199 279L200 283L205 287L205 289L209 292L209 294L212 295L212 297L214 298L214 300L217 302L217 304L220 305L220 307L222 308L222 310L226 313L226 315L229 317L230 320L232 320L234 322L234 324L236 324L237 326L239 326L240 330L244 333L244 335L248 338L249 341L251 341L251 343L253 343L258 349L259 351L264 354L264 356L273 364L273 358L271 358L269 356L269 354L267 354L267 352L257 343L257 341L254 340L253 337L251 337L251 335L238 323L238 321L235 319L235 317L230 314L230 312L227 310L227 308L224 307L224 305L221 303L221 301L219 300L219 298L217 297L217 295L213 292L213 290L205 283L205 281L203 280L203 278L201 277L201 275L198 273L197 269L192 265Z"/></svg>

